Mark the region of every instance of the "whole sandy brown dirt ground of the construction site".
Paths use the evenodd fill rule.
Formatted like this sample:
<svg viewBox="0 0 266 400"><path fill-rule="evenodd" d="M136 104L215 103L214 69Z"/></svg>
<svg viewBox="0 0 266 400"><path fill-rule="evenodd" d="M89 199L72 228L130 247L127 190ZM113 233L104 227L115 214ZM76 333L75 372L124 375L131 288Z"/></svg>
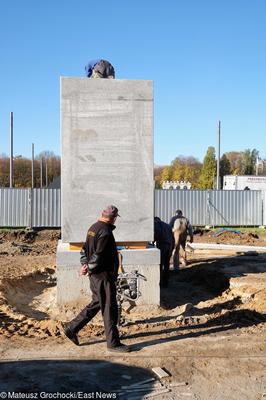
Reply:
<svg viewBox="0 0 266 400"><path fill-rule="evenodd" d="M189 253L186 268L170 271L160 307L124 313L122 340L134 350L127 355L107 353L100 315L80 332L81 346L62 336L60 321L78 310L56 306L59 231L0 232L0 398L8 391L131 400L266 398L266 241L217 232L199 230L195 241L265 246L265 254ZM156 378L153 367L169 376L141 391L132 386Z"/></svg>

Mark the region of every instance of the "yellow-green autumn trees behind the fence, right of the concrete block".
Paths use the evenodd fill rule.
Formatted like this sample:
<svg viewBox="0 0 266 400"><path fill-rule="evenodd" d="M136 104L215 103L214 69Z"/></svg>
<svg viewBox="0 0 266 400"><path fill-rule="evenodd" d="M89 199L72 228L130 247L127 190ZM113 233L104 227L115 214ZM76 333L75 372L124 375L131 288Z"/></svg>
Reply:
<svg viewBox="0 0 266 400"><path fill-rule="evenodd" d="M220 187L225 175L255 175L259 151L230 151L220 159ZM170 165L154 169L155 187L161 188L164 181L189 181L192 189L213 189L217 174L217 159L214 147L208 147L203 163L195 157L178 156Z"/></svg>

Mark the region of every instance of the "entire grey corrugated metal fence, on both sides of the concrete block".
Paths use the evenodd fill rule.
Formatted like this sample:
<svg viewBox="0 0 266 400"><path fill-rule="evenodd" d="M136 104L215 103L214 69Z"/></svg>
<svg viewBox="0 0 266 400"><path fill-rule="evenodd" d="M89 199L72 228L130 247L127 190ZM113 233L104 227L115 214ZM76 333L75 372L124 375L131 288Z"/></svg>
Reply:
<svg viewBox="0 0 266 400"><path fill-rule="evenodd" d="M180 208L194 226L266 225L266 192L155 190L155 215L169 222ZM1 227L60 227L60 189L0 188Z"/></svg>

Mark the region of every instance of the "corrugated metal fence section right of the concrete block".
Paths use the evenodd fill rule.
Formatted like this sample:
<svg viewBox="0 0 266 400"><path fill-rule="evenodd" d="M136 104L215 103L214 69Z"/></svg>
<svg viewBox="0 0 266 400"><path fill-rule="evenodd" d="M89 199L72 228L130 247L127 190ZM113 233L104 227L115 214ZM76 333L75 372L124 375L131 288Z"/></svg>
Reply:
<svg viewBox="0 0 266 400"><path fill-rule="evenodd" d="M155 215L169 222L177 208L192 225L265 225L260 190L155 190Z"/></svg>

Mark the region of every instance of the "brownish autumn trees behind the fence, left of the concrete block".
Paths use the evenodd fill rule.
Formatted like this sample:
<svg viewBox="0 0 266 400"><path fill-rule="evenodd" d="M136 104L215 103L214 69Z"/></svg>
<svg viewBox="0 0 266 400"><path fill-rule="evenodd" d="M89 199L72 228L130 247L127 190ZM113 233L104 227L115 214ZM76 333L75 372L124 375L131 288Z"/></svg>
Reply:
<svg viewBox="0 0 266 400"><path fill-rule="evenodd" d="M34 159L34 187L46 187L60 176L60 157L51 151L43 151ZM46 179L47 178L47 179ZM47 180L47 182L46 182ZM5 154L0 156L0 187L10 185L10 159ZM32 160L22 156L13 159L13 187L32 186Z"/></svg>

